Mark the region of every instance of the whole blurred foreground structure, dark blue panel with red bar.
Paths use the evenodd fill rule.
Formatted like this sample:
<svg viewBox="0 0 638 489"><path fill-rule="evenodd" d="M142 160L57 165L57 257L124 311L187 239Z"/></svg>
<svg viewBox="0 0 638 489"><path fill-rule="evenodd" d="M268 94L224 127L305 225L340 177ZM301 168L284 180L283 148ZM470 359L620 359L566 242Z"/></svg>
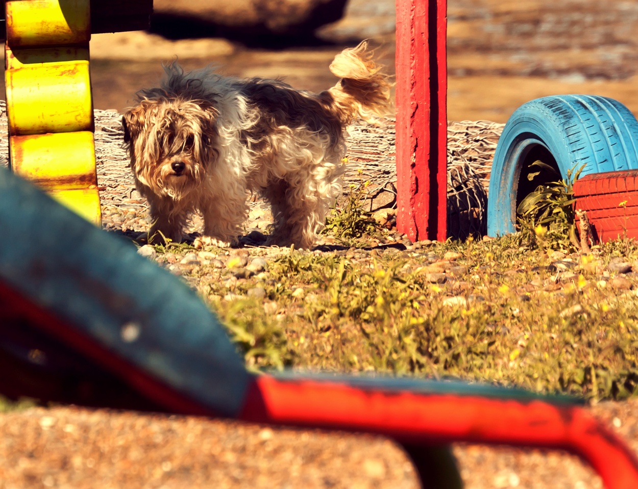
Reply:
<svg viewBox="0 0 638 489"><path fill-rule="evenodd" d="M638 462L573 400L366 377L256 376L177 277L0 169L0 392L392 437L424 486L460 487L455 441L567 449L608 489Z"/></svg>

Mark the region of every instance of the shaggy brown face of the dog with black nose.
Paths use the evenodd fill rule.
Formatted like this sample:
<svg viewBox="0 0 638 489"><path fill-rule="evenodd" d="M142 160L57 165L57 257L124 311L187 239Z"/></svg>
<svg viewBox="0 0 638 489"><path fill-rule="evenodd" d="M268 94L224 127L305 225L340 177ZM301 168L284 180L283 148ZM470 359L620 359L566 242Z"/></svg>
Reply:
<svg viewBox="0 0 638 489"><path fill-rule="evenodd" d="M175 200L197 189L218 151L218 111L205 101L144 99L122 117L135 177L158 196Z"/></svg>

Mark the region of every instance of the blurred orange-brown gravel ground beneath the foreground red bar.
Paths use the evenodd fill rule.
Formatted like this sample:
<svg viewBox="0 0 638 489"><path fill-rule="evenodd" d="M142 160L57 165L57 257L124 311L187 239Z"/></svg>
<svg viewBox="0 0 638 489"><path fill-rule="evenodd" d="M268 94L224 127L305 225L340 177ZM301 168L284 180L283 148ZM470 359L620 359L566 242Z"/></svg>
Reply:
<svg viewBox="0 0 638 489"><path fill-rule="evenodd" d="M591 411L638 449L637 400ZM0 488L418 488L383 437L78 407L0 416ZM560 451L453 447L466 489L601 488Z"/></svg>

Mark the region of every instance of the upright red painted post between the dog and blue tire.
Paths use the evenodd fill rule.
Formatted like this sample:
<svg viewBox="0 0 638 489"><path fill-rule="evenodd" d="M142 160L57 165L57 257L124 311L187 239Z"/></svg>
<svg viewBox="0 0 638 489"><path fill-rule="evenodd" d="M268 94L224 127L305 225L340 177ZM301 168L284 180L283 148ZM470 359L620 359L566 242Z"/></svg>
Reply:
<svg viewBox="0 0 638 489"><path fill-rule="evenodd" d="M447 238L447 0L396 0L397 230Z"/></svg>

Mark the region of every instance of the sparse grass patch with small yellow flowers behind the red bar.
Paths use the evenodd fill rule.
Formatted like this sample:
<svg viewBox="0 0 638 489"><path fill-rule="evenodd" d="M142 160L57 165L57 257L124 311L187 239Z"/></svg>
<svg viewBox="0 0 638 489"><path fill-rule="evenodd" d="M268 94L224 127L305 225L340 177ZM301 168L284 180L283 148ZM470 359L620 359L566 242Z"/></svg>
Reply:
<svg viewBox="0 0 638 489"><path fill-rule="evenodd" d="M251 368L454 377L597 400L635 394L636 294L600 282L625 245L574 255L574 277L554 283L547 254L523 242L519 234L364 259L292 251L214 309ZM434 283L446 252L455 278ZM623 256L638 259L635 245ZM265 298L243 298L255 286Z"/></svg>

